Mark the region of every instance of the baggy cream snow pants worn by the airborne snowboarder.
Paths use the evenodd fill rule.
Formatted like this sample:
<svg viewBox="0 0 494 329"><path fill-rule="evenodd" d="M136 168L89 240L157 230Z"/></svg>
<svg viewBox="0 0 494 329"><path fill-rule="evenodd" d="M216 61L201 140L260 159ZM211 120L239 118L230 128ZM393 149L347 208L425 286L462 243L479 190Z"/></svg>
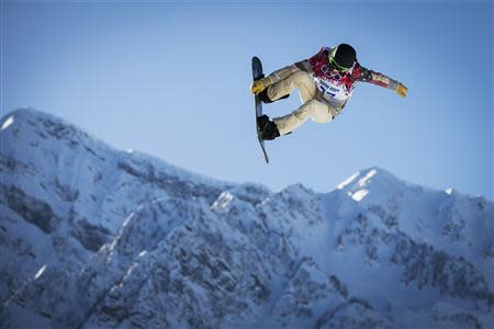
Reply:
<svg viewBox="0 0 494 329"><path fill-rule="evenodd" d="M293 66L283 68L271 76L284 76L288 70L294 71L287 78L274 82L268 87L268 97L276 101L283 95L290 94L295 88L299 89L302 105L292 113L274 117L273 122L277 124L280 135L287 135L299 128L308 117L316 123L328 123L333 120L335 110L329 104L315 99L317 94L317 87L314 79L305 71L294 69ZM283 75L284 73L284 75Z"/></svg>

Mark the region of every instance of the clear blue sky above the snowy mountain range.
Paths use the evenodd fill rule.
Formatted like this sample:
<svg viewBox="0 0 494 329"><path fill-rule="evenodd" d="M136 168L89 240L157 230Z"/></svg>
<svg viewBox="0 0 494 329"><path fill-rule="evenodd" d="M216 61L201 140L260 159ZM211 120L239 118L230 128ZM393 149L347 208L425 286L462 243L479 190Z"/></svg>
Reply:
<svg viewBox="0 0 494 329"><path fill-rule="evenodd" d="M326 192L378 166L493 198L486 1L2 1L1 111L33 106L121 149L234 182ZM270 72L338 43L409 88L360 83L334 122L255 136L250 57ZM265 106L270 116L300 105Z"/></svg>

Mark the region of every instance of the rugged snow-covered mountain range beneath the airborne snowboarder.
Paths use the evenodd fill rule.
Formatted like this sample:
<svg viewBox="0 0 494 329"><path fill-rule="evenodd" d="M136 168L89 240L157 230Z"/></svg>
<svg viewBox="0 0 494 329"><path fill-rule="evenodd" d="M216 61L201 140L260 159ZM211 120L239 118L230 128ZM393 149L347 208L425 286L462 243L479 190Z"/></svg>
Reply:
<svg viewBox="0 0 494 329"><path fill-rule="evenodd" d="M272 192L0 121L2 328L493 328L494 205L380 168Z"/></svg>

